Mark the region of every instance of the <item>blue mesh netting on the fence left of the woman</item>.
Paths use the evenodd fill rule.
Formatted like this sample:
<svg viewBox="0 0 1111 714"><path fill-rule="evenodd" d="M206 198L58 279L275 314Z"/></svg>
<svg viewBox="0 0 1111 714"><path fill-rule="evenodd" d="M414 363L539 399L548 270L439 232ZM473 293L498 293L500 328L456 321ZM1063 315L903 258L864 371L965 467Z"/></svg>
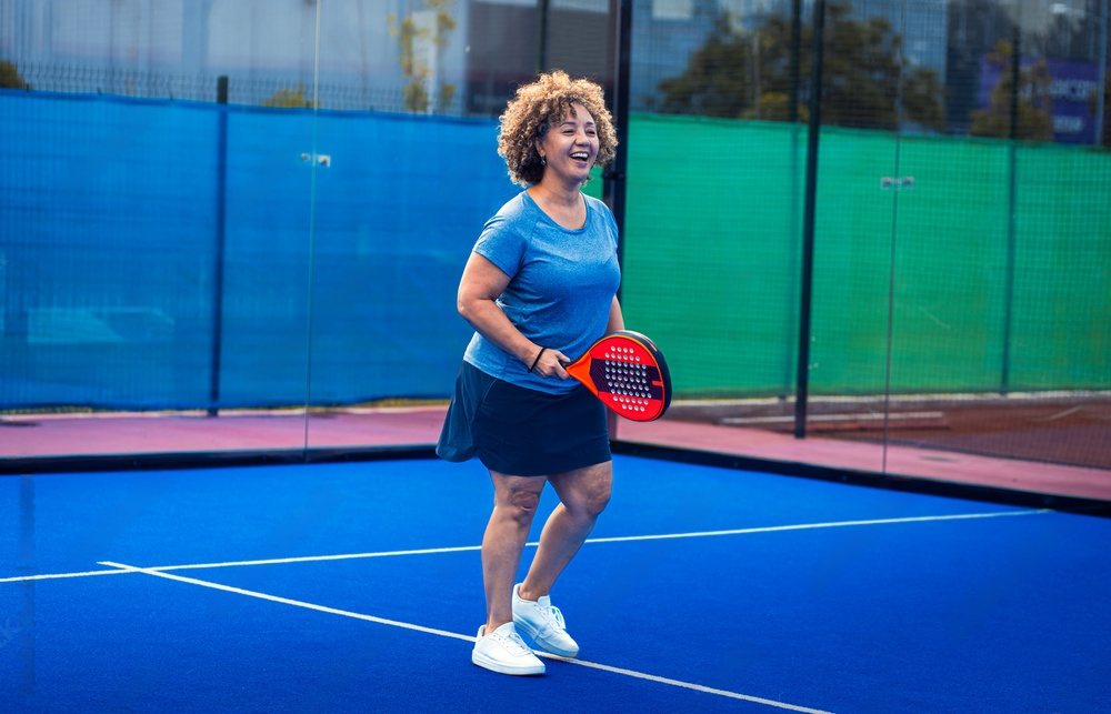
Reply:
<svg viewBox="0 0 1111 714"><path fill-rule="evenodd" d="M4 91L0 406L210 405L222 114L218 405L447 395L493 121Z"/></svg>

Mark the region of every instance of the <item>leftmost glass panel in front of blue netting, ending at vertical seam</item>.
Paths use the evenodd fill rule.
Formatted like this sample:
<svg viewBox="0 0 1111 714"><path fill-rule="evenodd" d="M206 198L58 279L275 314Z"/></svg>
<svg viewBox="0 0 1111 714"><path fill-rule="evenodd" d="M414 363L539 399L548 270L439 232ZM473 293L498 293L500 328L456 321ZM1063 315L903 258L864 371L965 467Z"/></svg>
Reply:
<svg viewBox="0 0 1111 714"><path fill-rule="evenodd" d="M304 443L316 8L0 12L6 456Z"/></svg>

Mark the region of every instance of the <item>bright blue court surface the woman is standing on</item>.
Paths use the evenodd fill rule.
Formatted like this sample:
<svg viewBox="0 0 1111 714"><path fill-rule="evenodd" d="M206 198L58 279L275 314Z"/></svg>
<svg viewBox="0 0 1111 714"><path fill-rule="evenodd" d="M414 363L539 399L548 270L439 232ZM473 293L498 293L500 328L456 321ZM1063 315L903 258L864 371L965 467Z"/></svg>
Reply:
<svg viewBox="0 0 1111 714"><path fill-rule="evenodd" d="M614 469L542 677L470 662L478 462L2 477L0 711L1111 711L1111 520Z"/></svg>

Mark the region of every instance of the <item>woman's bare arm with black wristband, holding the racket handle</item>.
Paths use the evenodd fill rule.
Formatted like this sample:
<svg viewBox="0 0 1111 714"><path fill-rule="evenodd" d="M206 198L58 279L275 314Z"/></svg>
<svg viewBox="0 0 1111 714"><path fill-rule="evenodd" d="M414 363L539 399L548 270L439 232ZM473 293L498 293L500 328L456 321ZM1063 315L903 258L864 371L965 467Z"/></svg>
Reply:
<svg viewBox="0 0 1111 714"><path fill-rule="evenodd" d="M497 300L506 291L509 280L509 275L489 259L471 253L467 267L463 268L463 276L459 281L457 296L459 314L478 330L479 334L529 368L543 345L521 334L498 306ZM567 379L567 372L560 365L560 360L567 361L567 358L559 350L549 348L544 350L533 372L541 376L554 375Z"/></svg>

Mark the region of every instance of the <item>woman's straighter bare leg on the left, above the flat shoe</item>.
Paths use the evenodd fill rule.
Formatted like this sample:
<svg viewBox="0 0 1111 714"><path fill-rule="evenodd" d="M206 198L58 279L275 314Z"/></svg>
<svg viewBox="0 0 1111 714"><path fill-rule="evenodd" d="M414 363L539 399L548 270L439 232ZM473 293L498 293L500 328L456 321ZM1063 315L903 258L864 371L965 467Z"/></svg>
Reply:
<svg viewBox="0 0 1111 714"><path fill-rule="evenodd" d="M482 584L487 599L487 633L513 620L512 593L521 553L547 480L490 472L493 513L482 537Z"/></svg>

